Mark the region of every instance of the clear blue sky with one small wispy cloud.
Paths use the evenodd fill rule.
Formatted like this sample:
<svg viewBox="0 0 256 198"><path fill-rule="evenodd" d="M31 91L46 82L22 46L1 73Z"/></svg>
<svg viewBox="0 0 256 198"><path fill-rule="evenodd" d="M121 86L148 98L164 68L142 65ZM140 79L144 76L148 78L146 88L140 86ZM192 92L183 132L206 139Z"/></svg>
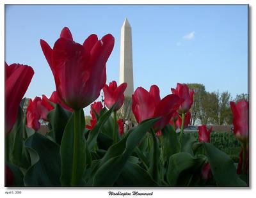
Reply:
<svg viewBox="0 0 256 198"><path fill-rule="evenodd" d="M201 83L207 91L248 93L246 5L7 5L8 64L30 65L35 75L25 96L50 96L55 89L40 39L52 47L67 26L83 43L90 34L111 33L115 47L107 82L119 81L120 29L132 26L134 89L159 86L161 97L177 82ZM88 108L85 113L88 114Z"/></svg>

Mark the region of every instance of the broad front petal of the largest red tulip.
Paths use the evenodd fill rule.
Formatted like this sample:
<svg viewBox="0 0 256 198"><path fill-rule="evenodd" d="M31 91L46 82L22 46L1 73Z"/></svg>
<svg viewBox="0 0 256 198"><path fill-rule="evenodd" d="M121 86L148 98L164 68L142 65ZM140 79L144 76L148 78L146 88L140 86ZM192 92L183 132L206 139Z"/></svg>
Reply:
<svg viewBox="0 0 256 198"><path fill-rule="evenodd" d="M59 38L53 47L54 80L61 100L69 107L84 107L84 87L89 79L89 54L79 43Z"/></svg>

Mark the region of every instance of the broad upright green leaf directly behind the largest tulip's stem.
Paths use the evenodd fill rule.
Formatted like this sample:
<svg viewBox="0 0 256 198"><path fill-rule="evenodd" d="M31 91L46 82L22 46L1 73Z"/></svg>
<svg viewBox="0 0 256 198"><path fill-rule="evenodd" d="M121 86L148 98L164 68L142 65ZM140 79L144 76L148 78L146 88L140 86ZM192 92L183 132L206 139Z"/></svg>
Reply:
<svg viewBox="0 0 256 198"><path fill-rule="evenodd" d="M70 116L63 133L61 155L61 185L80 186L86 169L86 139L83 109L75 110Z"/></svg>

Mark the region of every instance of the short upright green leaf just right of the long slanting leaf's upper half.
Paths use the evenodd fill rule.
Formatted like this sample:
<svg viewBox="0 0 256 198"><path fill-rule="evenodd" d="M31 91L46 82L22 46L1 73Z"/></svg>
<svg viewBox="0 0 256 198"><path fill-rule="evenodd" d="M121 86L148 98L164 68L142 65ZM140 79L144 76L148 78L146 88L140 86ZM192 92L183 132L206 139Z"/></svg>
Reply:
<svg viewBox="0 0 256 198"><path fill-rule="evenodd" d="M177 133L171 125L166 125L162 130L162 142L164 159L168 160L170 156L180 151L180 142L177 138Z"/></svg>

